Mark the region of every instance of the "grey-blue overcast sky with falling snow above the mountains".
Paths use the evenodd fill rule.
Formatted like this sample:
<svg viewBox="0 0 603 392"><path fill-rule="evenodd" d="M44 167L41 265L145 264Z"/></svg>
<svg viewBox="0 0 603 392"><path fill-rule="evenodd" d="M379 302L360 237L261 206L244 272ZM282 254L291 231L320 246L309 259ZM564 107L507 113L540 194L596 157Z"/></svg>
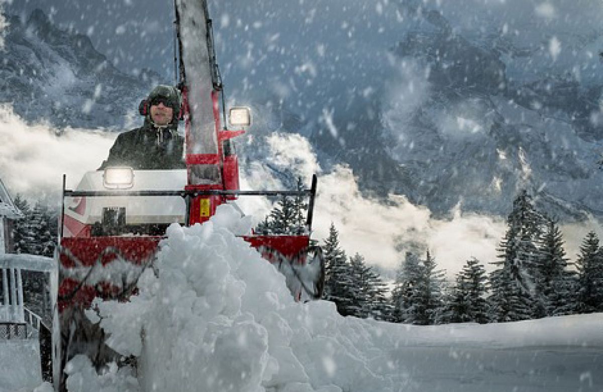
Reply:
<svg viewBox="0 0 603 392"><path fill-rule="evenodd" d="M400 69L391 49L408 31L434 28L424 17L429 10L474 42L502 34L531 51L526 63L508 61L508 75L579 66L580 78L603 81L599 0L209 0L209 7L227 95L283 101L310 119L324 109L349 111L358 99L377 101ZM8 0L5 8L24 19L42 8L90 36L119 69L148 67L173 78L171 0Z"/></svg>

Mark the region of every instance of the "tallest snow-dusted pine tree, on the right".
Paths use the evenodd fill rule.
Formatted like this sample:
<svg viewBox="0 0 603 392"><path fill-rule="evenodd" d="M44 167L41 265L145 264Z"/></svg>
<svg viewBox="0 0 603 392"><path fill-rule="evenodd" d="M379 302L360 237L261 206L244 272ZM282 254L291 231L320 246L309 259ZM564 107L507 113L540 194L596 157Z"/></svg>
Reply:
<svg viewBox="0 0 603 392"><path fill-rule="evenodd" d="M528 320L534 316L537 246L544 218L523 190L513 202L508 229L499 247L498 267L490 275L490 317L496 322Z"/></svg>

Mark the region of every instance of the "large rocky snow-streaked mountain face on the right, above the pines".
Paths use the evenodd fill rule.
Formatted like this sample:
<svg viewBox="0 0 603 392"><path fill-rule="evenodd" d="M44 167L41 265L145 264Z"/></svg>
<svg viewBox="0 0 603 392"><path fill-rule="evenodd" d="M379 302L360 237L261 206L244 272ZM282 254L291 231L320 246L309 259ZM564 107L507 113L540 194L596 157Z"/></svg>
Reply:
<svg viewBox="0 0 603 392"><path fill-rule="evenodd" d="M366 190L406 194L435 214L504 215L525 188L560 219L603 217L602 86L538 73L534 51L502 34L473 40L437 11L424 17L427 28L391 49L400 80L378 102L359 98L372 110L335 119L336 137L316 132L322 154L349 163ZM517 78L519 62L538 78Z"/></svg>

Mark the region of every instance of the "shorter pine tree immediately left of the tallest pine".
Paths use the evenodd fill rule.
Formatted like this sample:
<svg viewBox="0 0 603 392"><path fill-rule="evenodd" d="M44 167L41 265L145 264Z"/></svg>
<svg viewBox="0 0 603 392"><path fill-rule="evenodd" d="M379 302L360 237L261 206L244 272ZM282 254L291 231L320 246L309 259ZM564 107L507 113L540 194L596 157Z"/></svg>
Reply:
<svg viewBox="0 0 603 392"><path fill-rule="evenodd" d="M487 276L476 258L467 260L456 275L456 285L450 300L450 321L453 323L487 323L488 305L485 300Z"/></svg>

